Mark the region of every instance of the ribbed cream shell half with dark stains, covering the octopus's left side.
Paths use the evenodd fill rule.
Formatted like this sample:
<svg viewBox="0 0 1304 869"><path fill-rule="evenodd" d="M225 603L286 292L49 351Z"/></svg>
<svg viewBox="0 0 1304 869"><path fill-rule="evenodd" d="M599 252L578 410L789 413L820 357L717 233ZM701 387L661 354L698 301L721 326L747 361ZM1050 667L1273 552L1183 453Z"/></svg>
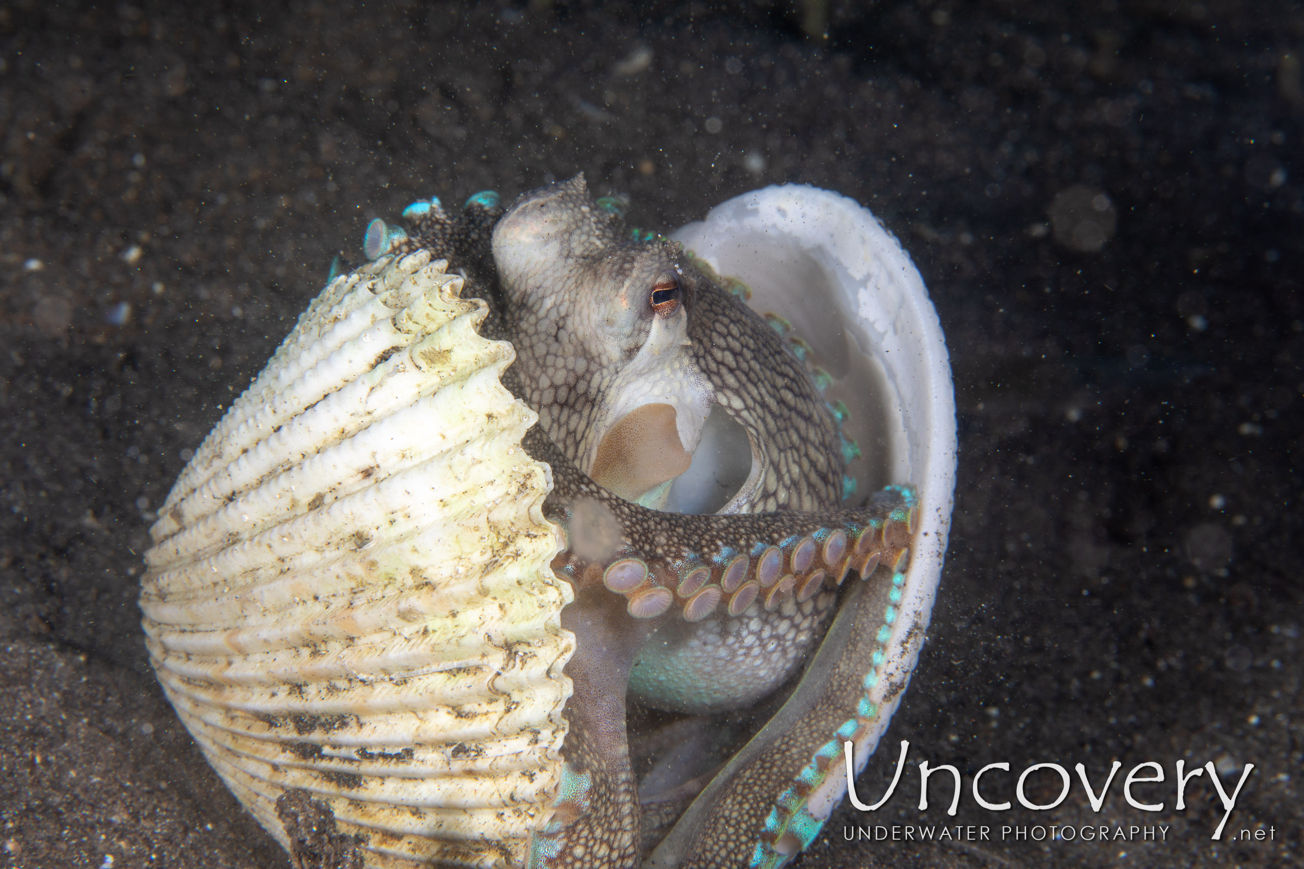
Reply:
<svg viewBox="0 0 1304 869"><path fill-rule="evenodd" d="M276 799L325 801L369 866L524 864L561 776L550 472L460 291L425 251L331 281L146 554L149 651L209 761L283 844Z"/></svg>

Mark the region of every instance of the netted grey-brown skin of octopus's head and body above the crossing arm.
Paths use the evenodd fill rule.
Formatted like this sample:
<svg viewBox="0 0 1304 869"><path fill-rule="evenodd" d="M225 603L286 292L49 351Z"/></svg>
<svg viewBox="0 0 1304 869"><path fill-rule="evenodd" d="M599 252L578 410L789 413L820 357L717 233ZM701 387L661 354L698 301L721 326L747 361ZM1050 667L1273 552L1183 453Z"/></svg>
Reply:
<svg viewBox="0 0 1304 869"><path fill-rule="evenodd" d="M647 388L621 383L621 375L639 362L635 354L651 331L668 322L647 307L647 291L657 275L672 275L682 285L683 304L669 318L679 322L666 327L666 343L687 345L660 350L651 366L639 366L639 375L653 386L656 379L704 380L698 391L712 393L747 430L758 460L756 486L745 486L746 495L726 512L837 504L837 430L797 358L677 245L626 241L617 225L593 205L580 176L526 194L494 229L514 367L527 404L553 442L587 469L593 442L604 434L601 410L615 403L621 387Z"/></svg>

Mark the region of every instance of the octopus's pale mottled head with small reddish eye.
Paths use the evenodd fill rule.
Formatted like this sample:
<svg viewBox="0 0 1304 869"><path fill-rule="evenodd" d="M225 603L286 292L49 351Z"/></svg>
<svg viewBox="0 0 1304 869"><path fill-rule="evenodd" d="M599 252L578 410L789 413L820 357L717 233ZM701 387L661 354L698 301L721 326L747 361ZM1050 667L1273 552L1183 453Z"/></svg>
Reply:
<svg viewBox="0 0 1304 869"><path fill-rule="evenodd" d="M660 506L713 399L689 337L696 272L673 244L619 228L580 175L522 197L494 229L493 255L545 430L597 482Z"/></svg>

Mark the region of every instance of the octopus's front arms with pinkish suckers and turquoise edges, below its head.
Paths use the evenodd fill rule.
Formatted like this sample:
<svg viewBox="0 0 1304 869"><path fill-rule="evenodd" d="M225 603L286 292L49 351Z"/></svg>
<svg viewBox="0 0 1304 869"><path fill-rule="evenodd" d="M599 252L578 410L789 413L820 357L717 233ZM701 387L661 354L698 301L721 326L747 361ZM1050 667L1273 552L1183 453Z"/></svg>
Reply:
<svg viewBox="0 0 1304 869"><path fill-rule="evenodd" d="M891 618L891 602L900 599L914 492L891 487L862 507L822 513L662 513L595 483L537 426L522 444L553 469L545 515L567 533L553 569L575 588L562 624L585 638L566 667L575 687L566 710L567 766L554 818L535 842L539 866L592 865L595 853L604 855L601 865L639 865L642 806L625 698L630 668L657 624L702 620L721 607L739 615L758 601L775 610L841 584L852 571L874 577L844 595L831 641L782 711L656 852L675 852L665 865L751 865L758 855L780 865L822 825L812 796L828 788L838 757L831 747L878 718L865 701L866 674L882 658L884 614ZM729 803L724 809L721 800Z"/></svg>

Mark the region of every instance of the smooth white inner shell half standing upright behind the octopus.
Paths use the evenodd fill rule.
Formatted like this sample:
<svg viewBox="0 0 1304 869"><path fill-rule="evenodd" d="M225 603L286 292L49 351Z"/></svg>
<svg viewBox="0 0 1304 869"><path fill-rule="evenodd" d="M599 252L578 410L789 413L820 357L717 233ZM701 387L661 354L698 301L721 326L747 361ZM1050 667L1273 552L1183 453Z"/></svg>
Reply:
<svg viewBox="0 0 1304 869"><path fill-rule="evenodd" d="M672 237L746 283L754 307L780 314L815 347L832 375L825 395L849 406L844 429L865 452L849 465L861 491L909 483L918 492L900 615L883 644L880 677L866 693L879 714L855 745L859 770L918 662L951 529L956 405L938 313L897 240L867 208L828 190L754 190ZM811 814L827 818L845 791L845 776L829 779L811 793Z"/></svg>

